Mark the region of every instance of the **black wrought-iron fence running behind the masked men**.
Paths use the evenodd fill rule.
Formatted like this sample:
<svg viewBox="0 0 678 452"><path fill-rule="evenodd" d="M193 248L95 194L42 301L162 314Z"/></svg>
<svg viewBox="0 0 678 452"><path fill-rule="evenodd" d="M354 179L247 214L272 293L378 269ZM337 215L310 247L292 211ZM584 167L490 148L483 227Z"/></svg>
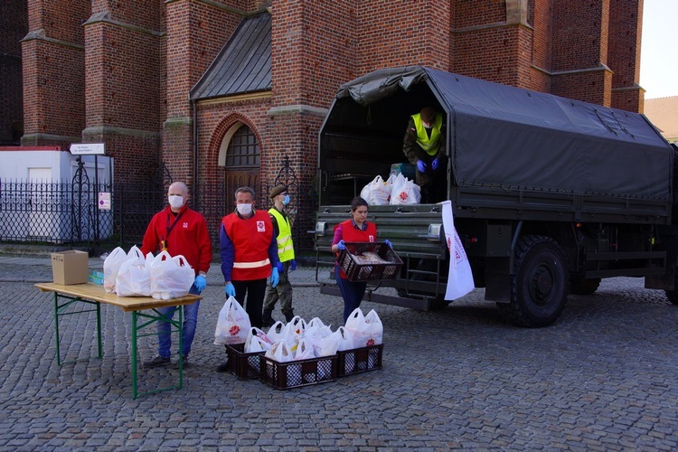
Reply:
<svg viewBox="0 0 678 452"><path fill-rule="evenodd" d="M127 250L141 244L148 222L165 209L171 182L170 178L131 186L94 184L87 179L71 183L0 181L0 242L63 245L93 253L117 246ZM293 223L295 249L310 252L313 242L307 231L313 229L315 187L298 184L294 174L281 172L272 182L252 187L259 208L268 210L268 193L276 184L288 185L291 202L287 213ZM190 189L195 201L190 205L205 217L215 253L219 252L221 218L234 208L238 187L232 185L202 184L197 190Z"/></svg>

